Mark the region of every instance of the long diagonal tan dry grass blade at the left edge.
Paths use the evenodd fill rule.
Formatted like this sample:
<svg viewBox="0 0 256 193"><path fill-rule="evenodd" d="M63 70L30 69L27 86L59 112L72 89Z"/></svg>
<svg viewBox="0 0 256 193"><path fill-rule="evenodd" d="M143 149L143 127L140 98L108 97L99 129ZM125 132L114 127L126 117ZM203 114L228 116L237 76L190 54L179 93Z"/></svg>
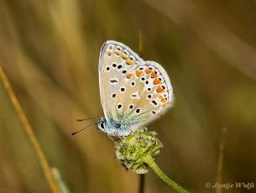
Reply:
<svg viewBox="0 0 256 193"><path fill-rule="evenodd" d="M39 163L41 164L41 167L44 170L44 175L45 175L46 179L48 180L48 183L50 185L52 192L59 193L60 191L58 190L55 180L54 180L53 176L51 175L50 167L47 163L47 160L44 157L44 154L39 146L37 139L34 136L34 133L29 124L29 121L28 121L27 117L25 116L22 107L19 105L18 99L13 92L13 88L11 87L11 85L8 82L8 78L5 76L1 65L0 65L0 77L3 81L3 85L5 86L6 90L8 91L8 96L10 97L11 102L13 103L13 106L18 113L18 117L20 118L21 122L24 124L25 132L29 136L29 140L34 148L35 154L37 155L37 157L39 159Z"/></svg>

